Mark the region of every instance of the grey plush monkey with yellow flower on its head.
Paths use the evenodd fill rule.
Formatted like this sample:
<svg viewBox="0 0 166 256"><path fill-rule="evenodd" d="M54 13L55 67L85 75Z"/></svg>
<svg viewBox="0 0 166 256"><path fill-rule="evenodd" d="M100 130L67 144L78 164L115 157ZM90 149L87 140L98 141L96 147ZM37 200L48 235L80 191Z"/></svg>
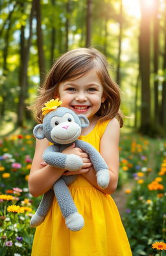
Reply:
<svg viewBox="0 0 166 256"><path fill-rule="evenodd" d="M43 160L54 167L77 171L82 167L82 158L75 154L63 154L62 151L75 142L75 147L79 147L89 155L91 163L96 171L97 184L104 189L110 182L108 166L104 162L101 154L89 143L78 140L81 129L89 126L89 121L84 115L76 115L74 111L66 107L58 107L62 102L58 99L51 100L43 107L43 124L34 127L34 136L38 139L47 138L53 145L47 147L43 152ZM58 108L56 108L58 107ZM84 226L84 218L78 213L71 193L71 184L77 175L62 176L53 185L53 189L43 195L42 201L36 213L30 220L32 227L40 225L53 202L55 195L58 205L65 218L65 225L71 231L78 231Z"/></svg>

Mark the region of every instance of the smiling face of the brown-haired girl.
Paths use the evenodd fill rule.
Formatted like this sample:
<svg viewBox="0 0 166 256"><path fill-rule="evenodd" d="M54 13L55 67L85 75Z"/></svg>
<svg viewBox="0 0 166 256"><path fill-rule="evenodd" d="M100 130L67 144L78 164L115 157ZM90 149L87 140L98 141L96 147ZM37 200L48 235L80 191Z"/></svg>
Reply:
<svg viewBox="0 0 166 256"><path fill-rule="evenodd" d="M77 115L84 114L88 118L97 113L101 103L106 99L95 70L60 83L56 97L62 100L62 106L72 109Z"/></svg>

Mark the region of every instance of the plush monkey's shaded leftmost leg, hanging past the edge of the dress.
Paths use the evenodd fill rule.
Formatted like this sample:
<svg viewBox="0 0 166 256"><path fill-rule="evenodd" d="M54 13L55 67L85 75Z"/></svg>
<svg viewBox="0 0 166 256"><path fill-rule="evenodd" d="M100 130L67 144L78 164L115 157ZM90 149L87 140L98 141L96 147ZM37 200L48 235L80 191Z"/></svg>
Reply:
<svg viewBox="0 0 166 256"><path fill-rule="evenodd" d="M47 215L47 212L49 211L50 206L53 203L53 198L53 190L49 190L43 194L42 201L40 202L38 209L30 220L31 227L38 227L40 224L42 224L45 216Z"/></svg>

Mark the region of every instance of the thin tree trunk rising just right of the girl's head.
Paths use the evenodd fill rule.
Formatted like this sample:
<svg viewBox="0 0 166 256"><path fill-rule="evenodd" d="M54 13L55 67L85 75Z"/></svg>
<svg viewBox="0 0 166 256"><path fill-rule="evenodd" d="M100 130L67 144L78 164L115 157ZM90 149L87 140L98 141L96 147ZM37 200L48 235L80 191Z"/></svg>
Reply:
<svg viewBox="0 0 166 256"><path fill-rule="evenodd" d="M122 22L123 21L123 3L120 0L120 14L119 14L119 50L117 55L117 83L121 85L121 42L122 42Z"/></svg>

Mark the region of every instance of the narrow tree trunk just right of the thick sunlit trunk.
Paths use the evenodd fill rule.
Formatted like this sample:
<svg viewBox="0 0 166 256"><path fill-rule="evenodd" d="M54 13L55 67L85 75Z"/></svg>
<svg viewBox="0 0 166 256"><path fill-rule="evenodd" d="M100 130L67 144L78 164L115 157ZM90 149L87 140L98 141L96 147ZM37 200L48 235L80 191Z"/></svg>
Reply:
<svg viewBox="0 0 166 256"><path fill-rule="evenodd" d="M153 42L154 42L154 76L158 74L158 57L159 57L159 19L158 19L159 2L155 0L154 7L154 27L153 27ZM154 121L159 122L159 104L158 104L158 80L154 79Z"/></svg>

